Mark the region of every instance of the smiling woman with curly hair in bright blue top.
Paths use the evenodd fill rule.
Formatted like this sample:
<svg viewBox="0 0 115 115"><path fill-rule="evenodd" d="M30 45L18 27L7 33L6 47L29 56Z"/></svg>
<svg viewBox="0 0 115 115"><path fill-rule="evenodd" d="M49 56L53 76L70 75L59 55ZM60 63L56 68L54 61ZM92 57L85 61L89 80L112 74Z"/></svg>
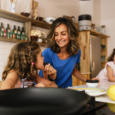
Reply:
<svg viewBox="0 0 115 115"><path fill-rule="evenodd" d="M42 55L44 61L56 69L56 84L66 88L72 86L72 74L82 81L86 81L78 69L80 63L80 48L78 43L78 30L73 22L67 18L57 18L48 34L49 46ZM40 75L42 72L40 71Z"/></svg>

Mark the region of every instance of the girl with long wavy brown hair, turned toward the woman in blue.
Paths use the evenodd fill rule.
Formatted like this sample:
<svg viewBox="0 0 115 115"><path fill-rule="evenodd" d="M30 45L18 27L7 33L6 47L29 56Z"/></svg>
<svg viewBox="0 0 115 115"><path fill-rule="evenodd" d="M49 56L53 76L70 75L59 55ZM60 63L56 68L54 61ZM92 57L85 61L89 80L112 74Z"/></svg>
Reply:
<svg viewBox="0 0 115 115"><path fill-rule="evenodd" d="M24 87L24 80L38 83L36 87L57 87L53 82L37 77L39 69L45 70L43 63L44 58L37 42L16 44L11 49L8 63L2 73L1 89Z"/></svg>

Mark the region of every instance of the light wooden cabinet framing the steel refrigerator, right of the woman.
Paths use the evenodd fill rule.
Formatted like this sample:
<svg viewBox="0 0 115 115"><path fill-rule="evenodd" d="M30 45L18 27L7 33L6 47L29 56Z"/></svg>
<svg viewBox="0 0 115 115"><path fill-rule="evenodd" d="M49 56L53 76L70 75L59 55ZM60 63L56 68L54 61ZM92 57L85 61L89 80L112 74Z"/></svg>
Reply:
<svg viewBox="0 0 115 115"><path fill-rule="evenodd" d="M109 36L95 32L95 31L81 31L79 32L79 42L80 42L80 48L81 48L81 58L80 58L80 72L81 74L86 77L87 79L90 79L91 77L91 47L90 47L90 39L91 36L98 37L100 39L100 65L101 69L105 66L105 63L107 61L107 38ZM96 49L95 49L96 50ZM95 57L97 54L95 54ZM81 81L79 81L77 78L73 77L73 85L81 85L83 84Z"/></svg>

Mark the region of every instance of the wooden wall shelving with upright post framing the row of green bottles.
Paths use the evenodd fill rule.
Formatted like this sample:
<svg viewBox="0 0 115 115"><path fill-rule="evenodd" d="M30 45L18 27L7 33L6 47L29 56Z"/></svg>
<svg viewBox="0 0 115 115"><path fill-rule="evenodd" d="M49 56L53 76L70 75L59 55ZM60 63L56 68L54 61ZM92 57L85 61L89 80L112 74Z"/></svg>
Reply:
<svg viewBox="0 0 115 115"><path fill-rule="evenodd" d="M42 28L46 28L46 29L50 28L50 24L47 24L45 22L40 22L40 21L37 21L37 20L33 20L31 18L27 18L27 17L22 16L20 14L8 12L8 11L1 10L1 9L0 9L0 18L5 18L5 19L12 20L12 21L23 23L24 27L25 27L25 32L26 32L28 41L30 40L30 31L31 31L32 26L42 27ZM22 41L22 40L7 39L5 37L0 37L0 41L19 42L19 41Z"/></svg>

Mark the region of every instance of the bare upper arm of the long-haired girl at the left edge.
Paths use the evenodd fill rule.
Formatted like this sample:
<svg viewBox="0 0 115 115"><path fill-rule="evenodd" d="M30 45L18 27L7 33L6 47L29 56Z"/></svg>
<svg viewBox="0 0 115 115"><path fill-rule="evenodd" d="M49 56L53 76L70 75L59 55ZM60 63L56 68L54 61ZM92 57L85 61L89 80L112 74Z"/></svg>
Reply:
<svg viewBox="0 0 115 115"><path fill-rule="evenodd" d="M15 85L17 83L17 80L19 79L17 73L15 71L10 71L4 81L2 81L2 85L0 87L0 90L3 89L11 89L15 88Z"/></svg>

